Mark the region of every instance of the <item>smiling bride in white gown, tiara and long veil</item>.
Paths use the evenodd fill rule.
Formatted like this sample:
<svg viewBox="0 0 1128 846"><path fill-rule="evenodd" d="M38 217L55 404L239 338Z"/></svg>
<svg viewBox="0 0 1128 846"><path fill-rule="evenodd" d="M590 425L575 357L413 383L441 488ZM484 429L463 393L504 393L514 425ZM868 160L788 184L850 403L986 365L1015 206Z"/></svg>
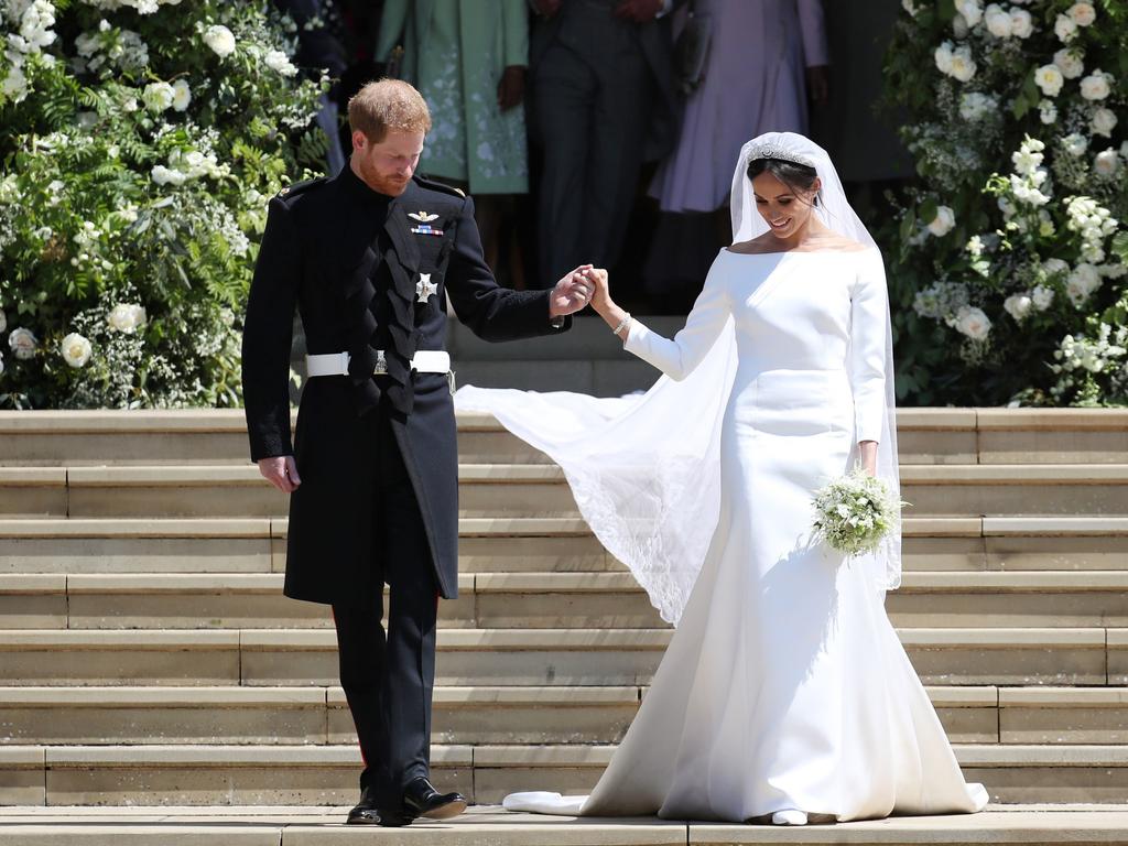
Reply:
<svg viewBox="0 0 1128 846"><path fill-rule="evenodd" d="M746 144L732 197L734 244L673 340L590 274L596 310L667 377L645 397L459 391L564 467L677 623L592 794L505 807L781 825L981 810L884 611L899 536L851 561L811 538L813 492L855 462L897 485L881 254L801 135Z"/></svg>

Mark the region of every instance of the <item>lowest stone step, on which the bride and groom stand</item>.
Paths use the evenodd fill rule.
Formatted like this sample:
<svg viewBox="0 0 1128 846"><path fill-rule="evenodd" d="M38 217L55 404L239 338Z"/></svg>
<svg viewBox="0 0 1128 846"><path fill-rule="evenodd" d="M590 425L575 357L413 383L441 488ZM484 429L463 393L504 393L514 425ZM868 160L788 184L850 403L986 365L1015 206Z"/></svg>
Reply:
<svg viewBox="0 0 1128 846"><path fill-rule="evenodd" d="M352 801L349 802L349 805ZM893 817L800 830L640 819L573 819L509 813L478 805L452 820L416 820L409 829L350 830L349 807L161 807L0 809L0 846L728 846L729 844L872 844L1058 846L1128 844L1128 807L992 805L978 814Z"/></svg>

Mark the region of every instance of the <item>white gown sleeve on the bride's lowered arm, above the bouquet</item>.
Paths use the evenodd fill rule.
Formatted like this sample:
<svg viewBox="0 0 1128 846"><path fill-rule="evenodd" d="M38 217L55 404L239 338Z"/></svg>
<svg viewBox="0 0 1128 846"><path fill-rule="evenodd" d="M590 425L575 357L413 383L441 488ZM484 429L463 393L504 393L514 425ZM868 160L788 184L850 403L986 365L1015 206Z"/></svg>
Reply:
<svg viewBox="0 0 1128 846"><path fill-rule="evenodd" d="M851 294L849 381L858 441L880 441L885 416L885 336L889 332L885 270L878 250L862 256Z"/></svg>

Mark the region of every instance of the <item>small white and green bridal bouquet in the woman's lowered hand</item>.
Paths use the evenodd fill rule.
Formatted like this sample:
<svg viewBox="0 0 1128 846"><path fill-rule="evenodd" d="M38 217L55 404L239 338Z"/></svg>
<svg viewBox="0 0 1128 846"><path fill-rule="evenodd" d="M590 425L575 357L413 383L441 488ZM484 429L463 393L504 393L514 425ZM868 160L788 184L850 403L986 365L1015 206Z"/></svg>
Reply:
<svg viewBox="0 0 1128 846"><path fill-rule="evenodd" d="M814 537L846 555L876 549L907 504L861 467L817 491L813 503Z"/></svg>

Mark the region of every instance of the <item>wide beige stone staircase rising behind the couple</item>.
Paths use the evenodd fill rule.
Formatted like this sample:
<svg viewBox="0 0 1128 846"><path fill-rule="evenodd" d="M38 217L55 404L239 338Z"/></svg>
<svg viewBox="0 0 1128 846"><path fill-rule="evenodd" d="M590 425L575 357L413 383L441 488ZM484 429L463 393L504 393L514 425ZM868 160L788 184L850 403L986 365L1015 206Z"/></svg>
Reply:
<svg viewBox="0 0 1128 846"><path fill-rule="evenodd" d="M968 778L1001 803L1125 802L1128 413L899 429L915 508L887 605ZM435 781L479 803L588 790L670 631L558 468L492 418L459 430ZM281 597L285 501L246 449L239 412L0 415L0 802L355 799L328 613Z"/></svg>

